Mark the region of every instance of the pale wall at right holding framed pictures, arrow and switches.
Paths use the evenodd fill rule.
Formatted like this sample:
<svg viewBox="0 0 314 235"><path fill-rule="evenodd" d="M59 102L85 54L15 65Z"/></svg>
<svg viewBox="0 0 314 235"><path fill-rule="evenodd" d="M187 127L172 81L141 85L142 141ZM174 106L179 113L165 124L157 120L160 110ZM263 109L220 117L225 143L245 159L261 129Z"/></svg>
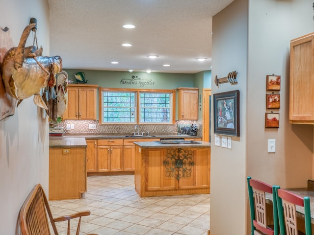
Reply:
<svg viewBox="0 0 314 235"><path fill-rule="evenodd" d="M212 94L240 90L240 137L211 148L210 232L249 234L246 177L282 188L312 177L313 126L288 123L289 42L313 31L311 0L235 0L213 17L212 77L238 71L238 85L212 81ZM265 129L266 75L281 75L278 129ZM211 133L213 138L213 131ZM276 139L276 153L267 140ZM232 198L232 199L231 199ZM228 223L228 226L226 226Z"/></svg>

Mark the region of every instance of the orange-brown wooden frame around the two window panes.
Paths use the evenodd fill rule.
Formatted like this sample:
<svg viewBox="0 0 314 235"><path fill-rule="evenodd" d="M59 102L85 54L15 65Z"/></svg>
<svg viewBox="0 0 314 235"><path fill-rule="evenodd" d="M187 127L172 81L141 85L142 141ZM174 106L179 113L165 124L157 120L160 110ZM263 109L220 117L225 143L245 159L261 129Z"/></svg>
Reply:
<svg viewBox="0 0 314 235"><path fill-rule="evenodd" d="M103 88L99 87L99 124L146 124L146 125L172 125L175 124L176 116L176 90L159 90L159 89L119 89L119 88ZM135 93L135 121L134 122L104 122L103 119L103 92L134 92ZM140 93L170 93L171 95L171 108L170 108L170 121L168 123L161 122L140 122Z"/></svg>

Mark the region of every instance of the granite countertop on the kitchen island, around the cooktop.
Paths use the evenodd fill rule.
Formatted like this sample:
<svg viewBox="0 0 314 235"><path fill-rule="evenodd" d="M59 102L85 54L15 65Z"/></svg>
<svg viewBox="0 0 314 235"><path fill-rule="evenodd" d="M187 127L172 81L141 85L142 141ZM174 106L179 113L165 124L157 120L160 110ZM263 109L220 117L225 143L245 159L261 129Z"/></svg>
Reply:
<svg viewBox="0 0 314 235"><path fill-rule="evenodd" d="M140 146L141 148L208 148L210 147L210 142L197 141L199 143L167 143L160 144L155 141L147 142L134 142L134 144Z"/></svg>

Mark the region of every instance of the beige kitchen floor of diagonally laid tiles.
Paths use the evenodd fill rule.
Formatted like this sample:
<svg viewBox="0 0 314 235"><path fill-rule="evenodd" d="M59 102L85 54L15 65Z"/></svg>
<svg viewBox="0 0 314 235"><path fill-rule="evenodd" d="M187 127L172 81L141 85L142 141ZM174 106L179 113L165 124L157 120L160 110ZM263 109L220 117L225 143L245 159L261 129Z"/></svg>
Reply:
<svg viewBox="0 0 314 235"><path fill-rule="evenodd" d="M87 177L87 192L76 200L50 201L53 217L89 210L80 235L207 235L209 194L141 198L134 175ZM77 221L71 221L75 234ZM57 222L66 235L66 222Z"/></svg>

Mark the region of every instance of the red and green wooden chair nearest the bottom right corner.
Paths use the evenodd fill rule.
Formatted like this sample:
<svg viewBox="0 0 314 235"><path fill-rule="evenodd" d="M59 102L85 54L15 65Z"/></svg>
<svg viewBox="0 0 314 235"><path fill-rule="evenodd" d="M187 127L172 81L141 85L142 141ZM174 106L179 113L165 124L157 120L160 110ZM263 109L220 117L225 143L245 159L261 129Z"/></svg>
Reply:
<svg viewBox="0 0 314 235"><path fill-rule="evenodd" d="M312 235L311 229L311 207L309 197L300 197L285 189L275 188L277 195L277 207L280 234L303 235L298 231L295 206L304 207L305 234Z"/></svg>

